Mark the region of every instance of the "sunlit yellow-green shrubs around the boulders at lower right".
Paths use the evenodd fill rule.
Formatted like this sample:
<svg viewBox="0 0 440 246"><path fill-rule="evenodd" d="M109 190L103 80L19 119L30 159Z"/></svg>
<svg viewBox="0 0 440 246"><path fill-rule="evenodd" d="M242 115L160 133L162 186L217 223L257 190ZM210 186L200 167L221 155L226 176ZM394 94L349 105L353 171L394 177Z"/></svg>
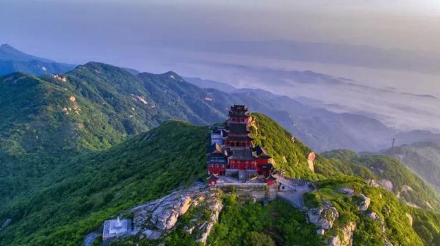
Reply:
<svg viewBox="0 0 440 246"><path fill-rule="evenodd" d="M329 230L329 235L340 234L340 229L344 225L355 222L354 245L383 245L387 239L394 245L423 245L423 235L417 228L411 227L410 220L406 216L406 212L409 213L412 208L401 204L392 193L368 186L358 177L349 176L322 180L317 182L317 186L317 191L305 197L305 203L317 205L322 201L331 201L336 207L340 217L333 229ZM351 188L355 190L355 195L353 197L344 195L338 192L339 188ZM359 204L362 201L358 197L359 193L371 198L371 205L366 212L359 210ZM369 218L370 212L375 212L382 222ZM384 225L384 230L381 229L382 225ZM434 234L439 235L438 231L434 231Z"/></svg>

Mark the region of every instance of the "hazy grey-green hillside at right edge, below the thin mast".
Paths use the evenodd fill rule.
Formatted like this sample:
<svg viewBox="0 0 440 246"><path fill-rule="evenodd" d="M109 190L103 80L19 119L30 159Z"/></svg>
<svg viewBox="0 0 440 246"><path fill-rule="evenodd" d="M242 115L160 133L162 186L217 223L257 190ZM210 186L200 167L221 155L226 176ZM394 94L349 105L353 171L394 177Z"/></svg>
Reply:
<svg viewBox="0 0 440 246"><path fill-rule="evenodd" d="M384 151L421 175L440 190L440 145L432 142L418 142L400 145Z"/></svg>

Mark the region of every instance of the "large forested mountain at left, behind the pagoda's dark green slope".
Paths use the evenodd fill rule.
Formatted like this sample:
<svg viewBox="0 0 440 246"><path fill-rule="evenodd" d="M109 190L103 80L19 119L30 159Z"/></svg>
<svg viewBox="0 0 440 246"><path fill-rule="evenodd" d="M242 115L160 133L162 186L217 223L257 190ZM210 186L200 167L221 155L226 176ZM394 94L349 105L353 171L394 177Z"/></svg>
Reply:
<svg viewBox="0 0 440 246"><path fill-rule="evenodd" d="M1 197L78 153L107 149L164 121L224 119L225 109L205 97L172 72L133 75L96 62L65 75L0 77Z"/></svg>

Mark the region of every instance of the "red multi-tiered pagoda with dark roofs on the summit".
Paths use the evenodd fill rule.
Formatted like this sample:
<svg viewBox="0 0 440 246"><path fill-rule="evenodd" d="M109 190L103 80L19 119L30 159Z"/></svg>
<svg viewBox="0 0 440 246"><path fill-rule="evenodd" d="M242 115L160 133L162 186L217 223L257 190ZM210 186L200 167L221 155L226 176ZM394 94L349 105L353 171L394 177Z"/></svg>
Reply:
<svg viewBox="0 0 440 246"><path fill-rule="evenodd" d="M230 108L224 127L214 127L211 134L211 149L208 153L208 182L216 184L219 176L228 176L247 182L252 179L274 181L272 164L265 149L254 147L249 124L251 116L243 105ZM219 138L221 137L221 141Z"/></svg>

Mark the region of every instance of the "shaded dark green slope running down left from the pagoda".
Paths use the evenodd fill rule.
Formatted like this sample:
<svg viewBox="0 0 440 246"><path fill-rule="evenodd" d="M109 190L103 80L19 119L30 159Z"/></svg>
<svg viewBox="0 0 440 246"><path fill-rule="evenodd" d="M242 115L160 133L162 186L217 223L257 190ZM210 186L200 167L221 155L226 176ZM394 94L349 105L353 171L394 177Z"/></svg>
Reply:
<svg viewBox="0 0 440 246"><path fill-rule="evenodd" d="M0 207L13 223L1 245L79 245L104 219L191 185L206 172L208 128L171 121L101 153L54 170L58 180L36 185Z"/></svg>

